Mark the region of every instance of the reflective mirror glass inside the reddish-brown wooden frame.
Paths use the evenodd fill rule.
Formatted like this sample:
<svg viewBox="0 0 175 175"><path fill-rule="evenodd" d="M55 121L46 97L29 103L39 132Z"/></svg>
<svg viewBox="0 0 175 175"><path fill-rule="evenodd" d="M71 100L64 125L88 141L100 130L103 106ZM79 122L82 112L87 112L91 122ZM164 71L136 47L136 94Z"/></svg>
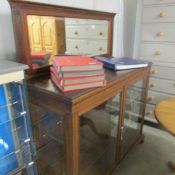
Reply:
<svg viewBox="0 0 175 175"><path fill-rule="evenodd" d="M107 53L108 21L28 15L32 68L52 63L54 55Z"/></svg>

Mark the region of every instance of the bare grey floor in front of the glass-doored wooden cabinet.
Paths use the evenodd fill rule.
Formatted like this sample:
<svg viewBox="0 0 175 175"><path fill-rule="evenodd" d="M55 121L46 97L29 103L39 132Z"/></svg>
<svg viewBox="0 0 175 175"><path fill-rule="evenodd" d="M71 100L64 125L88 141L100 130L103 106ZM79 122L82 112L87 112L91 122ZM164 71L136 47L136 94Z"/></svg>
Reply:
<svg viewBox="0 0 175 175"><path fill-rule="evenodd" d="M167 132L144 127L145 141L137 145L113 175L174 175L167 161L175 162L175 137Z"/></svg>

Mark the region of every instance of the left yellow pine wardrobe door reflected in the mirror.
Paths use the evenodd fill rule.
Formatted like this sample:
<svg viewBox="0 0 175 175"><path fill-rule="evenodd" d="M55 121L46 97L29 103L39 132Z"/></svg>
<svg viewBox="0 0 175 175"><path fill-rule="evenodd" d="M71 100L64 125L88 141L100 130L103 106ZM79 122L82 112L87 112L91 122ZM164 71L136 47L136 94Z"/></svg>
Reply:
<svg viewBox="0 0 175 175"><path fill-rule="evenodd" d="M40 51L42 50L40 16L28 15L27 21L28 21L30 49L31 51Z"/></svg>

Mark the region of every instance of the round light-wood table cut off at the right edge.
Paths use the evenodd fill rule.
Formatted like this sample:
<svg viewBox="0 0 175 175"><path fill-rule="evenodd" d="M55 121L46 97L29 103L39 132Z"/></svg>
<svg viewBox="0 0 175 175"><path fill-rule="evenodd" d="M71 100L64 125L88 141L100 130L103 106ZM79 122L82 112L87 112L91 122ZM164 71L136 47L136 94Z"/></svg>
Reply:
<svg viewBox="0 0 175 175"><path fill-rule="evenodd" d="M158 122L175 136L175 97L159 102L155 108L155 116ZM168 166L175 172L175 163L169 161Z"/></svg>

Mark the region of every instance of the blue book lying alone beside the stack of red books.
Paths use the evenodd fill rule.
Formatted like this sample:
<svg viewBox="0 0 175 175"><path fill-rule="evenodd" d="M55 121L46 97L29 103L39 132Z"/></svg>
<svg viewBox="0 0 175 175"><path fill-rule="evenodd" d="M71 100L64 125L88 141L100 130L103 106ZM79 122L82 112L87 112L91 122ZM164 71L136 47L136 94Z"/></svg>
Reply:
<svg viewBox="0 0 175 175"><path fill-rule="evenodd" d="M147 67L148 62L143 60L136 60L128 57L95 57L96 60L103 63L103 66L108 69L112 70L125 70L125 69L134 69L134 68L141 68Z"/></svg>

